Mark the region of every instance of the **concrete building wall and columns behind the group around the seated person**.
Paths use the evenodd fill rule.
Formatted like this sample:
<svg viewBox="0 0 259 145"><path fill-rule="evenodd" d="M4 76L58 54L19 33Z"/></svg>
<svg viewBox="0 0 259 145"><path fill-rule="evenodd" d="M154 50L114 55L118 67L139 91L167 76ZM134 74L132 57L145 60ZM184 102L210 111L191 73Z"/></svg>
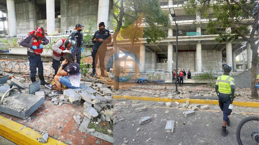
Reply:
<svg viewBox="0 0 259 145"><path fill-rule="evenodd" d="M0 33L5 37L23 36L38 26L47 34L68 34L77 23L86 27L91 21L94 31L102 21L113 29L112 0L0 0L0 10Z"/></svg>

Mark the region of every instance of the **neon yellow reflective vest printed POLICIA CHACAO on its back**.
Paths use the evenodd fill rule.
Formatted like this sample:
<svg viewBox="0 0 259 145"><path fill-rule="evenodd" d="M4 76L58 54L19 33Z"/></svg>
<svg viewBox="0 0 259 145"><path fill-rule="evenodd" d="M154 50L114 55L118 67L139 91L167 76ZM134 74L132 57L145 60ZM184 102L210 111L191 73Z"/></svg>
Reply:
<svg viewBox="0 0 259 145"><path fill-rule="evenodd" d="M222 75L219 76L217 81L219 85L219 91L227 94L231 94L230 82L232 81L231 76Z"/></svg>

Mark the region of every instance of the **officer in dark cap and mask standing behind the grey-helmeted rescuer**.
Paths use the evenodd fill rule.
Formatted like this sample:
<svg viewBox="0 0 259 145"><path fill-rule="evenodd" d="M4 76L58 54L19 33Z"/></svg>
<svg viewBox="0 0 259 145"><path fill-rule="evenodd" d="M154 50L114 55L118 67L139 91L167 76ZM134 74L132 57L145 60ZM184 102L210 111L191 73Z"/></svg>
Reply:
<svg viewBox="0 0 259 145"><path fill-rule="evenodd" d="M72 55L77 57L77 63L80 64L81 61L81 52L83 52L83 33L82 33L82 25L76 24L75 30L70 34L70 36L74 36L77 38L77 46L71 50Z"/></svg>

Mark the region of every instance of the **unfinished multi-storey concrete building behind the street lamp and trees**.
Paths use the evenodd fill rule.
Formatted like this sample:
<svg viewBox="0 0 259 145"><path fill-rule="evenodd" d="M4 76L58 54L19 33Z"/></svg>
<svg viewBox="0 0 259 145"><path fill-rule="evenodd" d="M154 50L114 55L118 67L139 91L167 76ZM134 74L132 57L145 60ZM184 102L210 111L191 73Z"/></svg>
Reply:
<svg viewBox="0 0 259 145"><path fill-rule="evenodd" d="M135 56L138 56L140 60L139 64L138 61L135 61L134 66L139 66L140 72L150 73L156 72L158 69L171 72L176 68L176 24L169 11L169 8L172 7L175 9L175 19L179 28L178 69L186 69L187 71L190 69L199 73L203 71L222 71L223 66L226 64L233 66L233 69L245 65L246 62L237 62L236 59L247 60L248 69L251 68L252 51L249 43L243 43L244 40L241 37L231 42L218 43L215 40L218 34L209 35L205 33L209 19L202 18L199 14L186 16L182 4L183 1L178 0L160 0L161 9L169 15L171 20L170 27L166 28L168 37L161 40L158 47L147 43L145 38L143 42L139 42L134 46L134 49L138 49ZM213 17L212 12L210 17ZM194 21L200 23L194 25ZM251 28L252 26L249 27ZM219 31L230 32L231 30L230 28L220 28ZM258 34L255 37L257 39ZM122 40L118 42L118 46L121 51L126 52L129 50L130 42ZM244 51L246 52L244 53ZM246 56L242 56L240 53L246 54ZM131 56L134 59L135 56Z"/></svg>

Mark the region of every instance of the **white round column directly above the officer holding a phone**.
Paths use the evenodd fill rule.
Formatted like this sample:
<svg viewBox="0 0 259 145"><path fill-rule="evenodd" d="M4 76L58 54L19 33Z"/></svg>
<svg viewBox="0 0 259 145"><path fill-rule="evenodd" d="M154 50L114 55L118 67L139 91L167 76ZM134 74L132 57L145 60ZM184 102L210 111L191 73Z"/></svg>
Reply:
<svg viewBox="0 0 259 145"><path fill-rule="evenodd" d="M106 28L108 27L108 13L109 13L109 0L99 0L98 3L98 16L97 16L97 29L99 23L104 22Z"/></svg>

